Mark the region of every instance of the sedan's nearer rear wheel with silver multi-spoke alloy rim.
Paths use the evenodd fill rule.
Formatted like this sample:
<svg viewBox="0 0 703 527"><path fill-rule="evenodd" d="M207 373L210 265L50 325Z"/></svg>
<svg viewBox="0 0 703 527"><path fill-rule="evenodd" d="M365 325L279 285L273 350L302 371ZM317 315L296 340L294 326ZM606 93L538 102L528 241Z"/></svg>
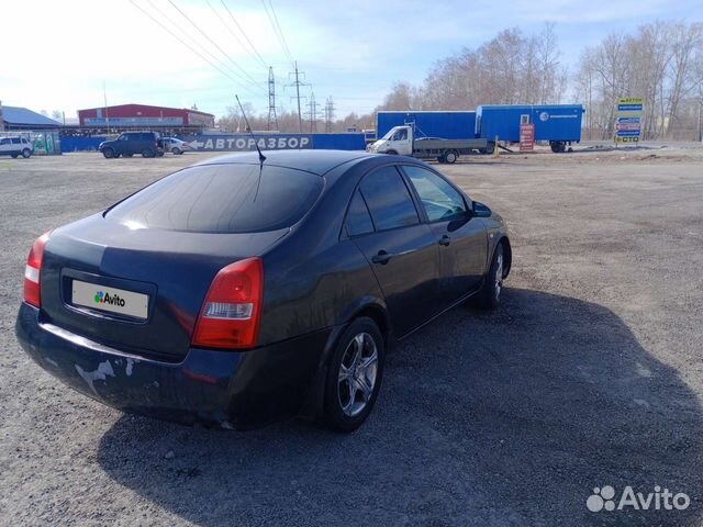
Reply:
<svg viewBox="0 0 703 527"><path fill-rule="evenodd" d="M327 365L324 424L328 428L349 433L366 421L381 388L384 358L383 336L371 318L355 319L342 334Z"/></svg>

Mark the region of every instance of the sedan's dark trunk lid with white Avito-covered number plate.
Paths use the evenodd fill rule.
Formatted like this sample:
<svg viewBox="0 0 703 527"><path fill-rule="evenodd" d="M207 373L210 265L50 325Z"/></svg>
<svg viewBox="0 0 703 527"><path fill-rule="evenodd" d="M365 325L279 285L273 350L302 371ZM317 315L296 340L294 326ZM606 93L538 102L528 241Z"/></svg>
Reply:
<svg viewBox="0 0 703 527"><path fill-rule="evenodd" d="M288 231L130 228L90 216L52 233L42 267L42 310L53 324L101 344L179 361L217 271L263 255Z"/></svg>

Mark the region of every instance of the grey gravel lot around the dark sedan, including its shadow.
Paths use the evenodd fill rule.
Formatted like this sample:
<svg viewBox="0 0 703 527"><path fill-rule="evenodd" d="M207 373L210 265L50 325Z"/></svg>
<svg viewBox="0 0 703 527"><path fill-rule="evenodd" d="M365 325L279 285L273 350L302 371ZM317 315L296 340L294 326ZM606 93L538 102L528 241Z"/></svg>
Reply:
<svg viewBox="0 0 703 527"><path fill-rule="evenodd" d="M403 343L349 436L123 415L16 344L33 239L198 158L0 160L0 525L700 525L703 149L446 168L509 222L504 303ZM589 512L603 485L691 504Z"/></svg>

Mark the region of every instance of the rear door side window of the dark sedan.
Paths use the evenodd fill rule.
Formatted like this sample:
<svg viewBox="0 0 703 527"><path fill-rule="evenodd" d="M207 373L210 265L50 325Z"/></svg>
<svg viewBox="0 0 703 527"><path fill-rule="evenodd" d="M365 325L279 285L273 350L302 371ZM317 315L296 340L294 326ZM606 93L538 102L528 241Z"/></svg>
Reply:
<svg viewBox="0 0 703 527"><path fill-rule="evenodd" d="M376 231L405 227L420 223L415 204L395 167L369 173L360 184Z"/></svg>

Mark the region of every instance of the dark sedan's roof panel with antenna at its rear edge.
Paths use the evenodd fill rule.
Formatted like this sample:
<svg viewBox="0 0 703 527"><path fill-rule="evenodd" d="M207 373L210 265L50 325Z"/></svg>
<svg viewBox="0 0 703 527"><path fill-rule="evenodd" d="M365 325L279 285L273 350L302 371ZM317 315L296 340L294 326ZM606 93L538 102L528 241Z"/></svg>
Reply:
<svg viewBox="0 0 703 527"><path fill-rule="evenodd" d="M319 176L345 162L375 157L364 150L263 150L263 154L266 156L265 164L304 170ZM258 162L258 153L243 152L214 157L199 162L198 166Z"/></svg>

